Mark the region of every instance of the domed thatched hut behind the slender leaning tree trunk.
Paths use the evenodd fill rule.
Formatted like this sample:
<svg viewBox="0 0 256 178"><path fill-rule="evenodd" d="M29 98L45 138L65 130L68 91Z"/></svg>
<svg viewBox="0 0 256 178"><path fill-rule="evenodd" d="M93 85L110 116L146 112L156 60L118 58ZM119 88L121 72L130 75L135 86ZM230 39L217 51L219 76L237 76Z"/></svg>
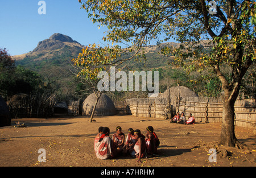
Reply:
<svg viewBox="0 0 256 178"><path fill-rule="evenodd" d="M90 116L93 111L93 107L96 103L97 97L94 93L90 94L82 103L82 115ZM113 101L106 95L101 94L100 99L98 100L94 116L103 116L103 115L115 115L115 106Z"/></svg>

